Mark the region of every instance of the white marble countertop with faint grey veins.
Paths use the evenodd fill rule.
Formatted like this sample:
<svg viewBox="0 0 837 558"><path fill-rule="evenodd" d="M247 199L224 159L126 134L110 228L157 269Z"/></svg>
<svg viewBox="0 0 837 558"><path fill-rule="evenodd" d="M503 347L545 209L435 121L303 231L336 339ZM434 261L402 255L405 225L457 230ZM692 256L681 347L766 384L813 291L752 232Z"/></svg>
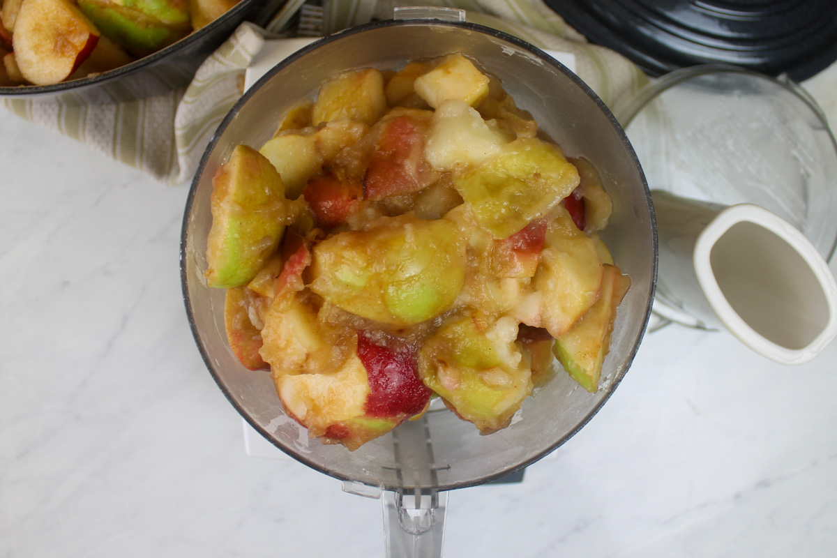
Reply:
<svg viewBox="0 0 837 558"><path fill-rule="evenodd" d="M187 187L3 111L0 130L0 555L383 555L380 501L244 453L182 303ZM445 555L832 556L834 361L649 334L521 484L449 495Z"/></svg>

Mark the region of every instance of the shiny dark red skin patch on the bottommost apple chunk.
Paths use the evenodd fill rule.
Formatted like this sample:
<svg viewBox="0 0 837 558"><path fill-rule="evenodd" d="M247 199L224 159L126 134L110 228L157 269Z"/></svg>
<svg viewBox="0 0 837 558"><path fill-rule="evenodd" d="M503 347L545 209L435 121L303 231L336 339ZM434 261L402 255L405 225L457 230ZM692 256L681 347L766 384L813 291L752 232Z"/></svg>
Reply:
<svg viewBox="0 0 837 558"><path fill-rule="evenodd" d="M424 411L432 392L419 379L411 347L382 346L367 333L357 332L357 356L367 370L367 417L412 417Z"/></svg>

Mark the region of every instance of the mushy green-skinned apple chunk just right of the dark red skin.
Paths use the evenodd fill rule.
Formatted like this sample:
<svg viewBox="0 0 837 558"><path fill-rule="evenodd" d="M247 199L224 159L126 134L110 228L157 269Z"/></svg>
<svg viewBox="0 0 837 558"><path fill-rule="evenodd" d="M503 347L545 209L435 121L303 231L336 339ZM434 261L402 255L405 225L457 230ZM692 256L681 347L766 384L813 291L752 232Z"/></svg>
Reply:
<svg viewBox="0 0 837 558"><path fill-rule="evenodd" d="M419 353L424 385L481 433L506 427L531 394L529 362L516 342L517 322L456 316Z"/></svg>

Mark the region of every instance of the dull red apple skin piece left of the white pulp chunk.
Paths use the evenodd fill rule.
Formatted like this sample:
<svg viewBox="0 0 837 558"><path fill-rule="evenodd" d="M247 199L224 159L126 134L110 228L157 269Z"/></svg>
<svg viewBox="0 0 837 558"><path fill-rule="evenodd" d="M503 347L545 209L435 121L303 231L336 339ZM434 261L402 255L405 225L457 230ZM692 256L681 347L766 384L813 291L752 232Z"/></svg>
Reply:
<svg viewBox="0 0 837 558"><path fill-rule="evenodd" d="M413 115L395 116L386 122L363 178L367 199L419 192L433 182L435 173L424 163L428 127L429 119Z"/></svg>

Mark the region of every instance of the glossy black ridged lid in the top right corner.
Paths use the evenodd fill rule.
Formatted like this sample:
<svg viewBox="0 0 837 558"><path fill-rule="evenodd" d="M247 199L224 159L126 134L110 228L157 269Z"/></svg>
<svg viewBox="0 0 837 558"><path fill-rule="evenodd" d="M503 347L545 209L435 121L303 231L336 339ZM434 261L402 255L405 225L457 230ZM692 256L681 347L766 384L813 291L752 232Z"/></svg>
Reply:
<svg viewBox="0 0 837 558"><path fill-rule="evenodd" d="M808 79L837 59L835 0L545 0L591 43L657 76L734 64Z"/></svg>

